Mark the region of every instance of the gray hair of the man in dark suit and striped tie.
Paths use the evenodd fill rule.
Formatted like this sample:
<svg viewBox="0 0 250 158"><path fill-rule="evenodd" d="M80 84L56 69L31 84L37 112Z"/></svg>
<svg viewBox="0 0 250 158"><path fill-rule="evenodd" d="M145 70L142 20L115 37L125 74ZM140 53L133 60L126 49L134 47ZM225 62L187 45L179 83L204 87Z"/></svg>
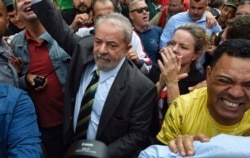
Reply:
<svg viewBox="0 0 250 158"><path fill-rule="evenodd" d="M112 25L121 28L124 34L124 40L126 44L129 44L131 39L132 39L132 25L128 18L123 16L120 13L110 13L107 15L100 16L96 23L95 23L95 28L97 29L100 24L103 22L109 22Z"/></svg>

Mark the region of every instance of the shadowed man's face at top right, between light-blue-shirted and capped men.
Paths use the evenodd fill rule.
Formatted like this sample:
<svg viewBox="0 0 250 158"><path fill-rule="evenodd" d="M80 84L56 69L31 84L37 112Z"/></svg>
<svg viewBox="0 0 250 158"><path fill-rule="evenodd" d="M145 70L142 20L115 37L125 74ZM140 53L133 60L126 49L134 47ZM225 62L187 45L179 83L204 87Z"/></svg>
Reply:
<svg viewBox="0 0 250 158"><path fill-rule="evenodd" d="M235 11L236 11L236 9L234 7L225 5L221 10L219 20L223 23L226 23L227 20L235 17Z"/></svg>

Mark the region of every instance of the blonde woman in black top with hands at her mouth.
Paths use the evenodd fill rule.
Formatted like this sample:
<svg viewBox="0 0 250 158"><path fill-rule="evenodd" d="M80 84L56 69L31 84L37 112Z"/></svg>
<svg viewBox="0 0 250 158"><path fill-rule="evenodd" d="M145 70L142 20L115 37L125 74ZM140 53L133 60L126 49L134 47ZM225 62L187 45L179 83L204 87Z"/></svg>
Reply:
<svg viewBox="0 0 250 158"><path fill-rule="evenodd" d="M180 94L188 93L188 87L205 80L203 67L197 65L198 58L208 45L209 39L204 28L197 24L184 24L175 31L168 46L160 51L161 60L149 74L151 79L154 78L152 80L158 81L158 130L168 105ZM153 124L155 126L155 122Z"/></svg>

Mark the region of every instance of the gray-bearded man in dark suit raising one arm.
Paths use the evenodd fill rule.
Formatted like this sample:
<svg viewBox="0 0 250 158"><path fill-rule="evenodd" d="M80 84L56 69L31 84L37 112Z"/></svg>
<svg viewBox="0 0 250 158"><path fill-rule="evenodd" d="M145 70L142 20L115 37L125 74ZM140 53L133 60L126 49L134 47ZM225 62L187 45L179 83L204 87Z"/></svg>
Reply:
<svg viewBox="0 0 250 158"><path fill-rule="evenodd" d="M129 20L118 13L105 15L96 22L95 37L80 38L49 0L33 3L32 9L46 30L72 55L65 89L65 143L74 140L79 102L97 67L100 79L87 139L104 142L111 158L133 157L147 145L156 87L125 58L131 47Z"/></svg>

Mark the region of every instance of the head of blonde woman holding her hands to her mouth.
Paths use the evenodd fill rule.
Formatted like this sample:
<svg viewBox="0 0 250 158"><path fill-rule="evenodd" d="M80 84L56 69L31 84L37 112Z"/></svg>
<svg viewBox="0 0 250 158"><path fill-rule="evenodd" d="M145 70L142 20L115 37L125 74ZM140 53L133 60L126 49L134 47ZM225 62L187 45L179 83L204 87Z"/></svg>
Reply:
<svg viewBox="0 0 250 158"><path fill-rule="evenodd" d="M182 56L181 67L186 69L204 52L209 44L206 30L197 24L184 24L176 29L168 44L177 56Z"/></svg>

